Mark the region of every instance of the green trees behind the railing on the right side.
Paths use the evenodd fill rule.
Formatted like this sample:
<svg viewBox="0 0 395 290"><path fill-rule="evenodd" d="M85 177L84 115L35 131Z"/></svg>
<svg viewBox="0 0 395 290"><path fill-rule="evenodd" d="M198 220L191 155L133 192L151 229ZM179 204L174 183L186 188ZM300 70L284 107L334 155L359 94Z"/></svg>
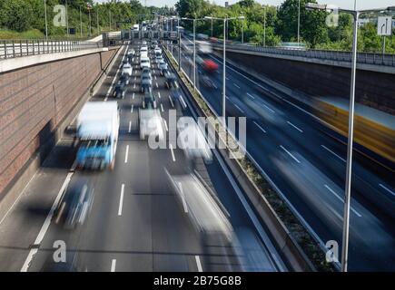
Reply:
<svg viewBox="0 0 395 290"><path fill-rule="evenodd" d="M339 24L330 27L326 24L329 13L324 11L308 11L305 5L315 0L301 0L300 41L313 49L329 49L350 51L352 45L352 17L350 14L340 14ZM241 0L228 7L214 5L206 0L179 0L175 5L182 17L203 18L237 17L243 15L244 20L229 21L226 31L232 41L265 44L277 46L281 42L297 42L299 0L285 0L280 6L260 5L253 0ZM370 15L370 18L377 14ZM191 22L184 22L188 30L192 29ZM223 37L221 21L198 21L197 33ZM213 29L212 29L212 27ZM386 52L395 53L395 40L386 39ZM382 50L382 38L377 35L374 22L364 24L359 30L358 49L360 52L378 53Z"/></svg>

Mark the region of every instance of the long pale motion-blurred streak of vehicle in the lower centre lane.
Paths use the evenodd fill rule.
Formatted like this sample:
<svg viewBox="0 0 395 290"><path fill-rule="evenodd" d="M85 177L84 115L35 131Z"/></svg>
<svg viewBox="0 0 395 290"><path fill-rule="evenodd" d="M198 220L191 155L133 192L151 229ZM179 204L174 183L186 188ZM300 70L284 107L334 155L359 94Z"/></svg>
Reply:
<svg viewBox="0 0 395 290"><path fill-rule="evenodd" d="M230 215L212 189L197 171L186 175L172 175L165 169L170 188L173 189L181 210L188 209L189 223L204 245L202 264L207 271L215 265L227 266L234 271L242 263L238 255L238 242L230 222ZM240 270L239 270L240 271Z"/></svg>

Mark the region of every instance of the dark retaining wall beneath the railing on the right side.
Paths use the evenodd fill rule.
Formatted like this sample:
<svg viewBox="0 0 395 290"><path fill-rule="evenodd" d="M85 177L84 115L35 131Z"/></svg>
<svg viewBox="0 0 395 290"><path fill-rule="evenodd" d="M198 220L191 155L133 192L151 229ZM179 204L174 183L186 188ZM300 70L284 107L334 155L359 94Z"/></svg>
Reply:
<svg viewBox="0 0 395 290"><path fill-rule="evenodd" d="M339 66L227 52L234 63L311 96L349 100L351 70ZM356 102L395 114L395 74L358 70Z"/></svg>

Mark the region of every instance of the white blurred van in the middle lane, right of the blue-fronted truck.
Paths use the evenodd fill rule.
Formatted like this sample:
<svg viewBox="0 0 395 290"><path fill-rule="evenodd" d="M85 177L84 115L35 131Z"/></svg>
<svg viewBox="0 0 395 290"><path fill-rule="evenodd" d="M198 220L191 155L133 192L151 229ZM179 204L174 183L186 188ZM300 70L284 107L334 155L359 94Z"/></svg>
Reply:
<svg viewBox="0 0 395 290"><path fill-rule="evenodd" d="M158 138L158 140L163 140L163 120L161 117L161 113L158 109L140 109L139 121L141 140L144 140L147 136L153 136L155 138Z"/></svg>

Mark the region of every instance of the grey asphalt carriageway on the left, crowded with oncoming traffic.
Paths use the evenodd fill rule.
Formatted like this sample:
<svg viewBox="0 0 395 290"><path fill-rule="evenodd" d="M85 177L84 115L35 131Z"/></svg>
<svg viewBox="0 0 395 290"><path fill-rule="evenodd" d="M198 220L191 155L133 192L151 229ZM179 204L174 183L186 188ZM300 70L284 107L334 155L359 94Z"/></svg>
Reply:
<svg viewBox="0 0 395 290"><path fill-rule="evenodd" d="M126 49L124 46L91 102L112 101ZM0 271L51 269L56 241L64 241L67 258L78 271L286 270L232 174L216 158L210 164L198 160L196 170L230 215L233 251L216 240L202 242L164 173L165 169L174 175L189 172L183 150L151 150L146 140L139 139L138 109L143 94L138 66L135 57L133 79L124 98L118 100L121 125L114 170L71 171L73 136L61 140L0 220ZM153 94L164 120L173 106L178 108L178 116L193 116L186 96L186 109L174 104L155 63L152 69ZM62 189L79 179L94 184L93 208L83 227L65 230L54 222L54 205Z"/></svg>

